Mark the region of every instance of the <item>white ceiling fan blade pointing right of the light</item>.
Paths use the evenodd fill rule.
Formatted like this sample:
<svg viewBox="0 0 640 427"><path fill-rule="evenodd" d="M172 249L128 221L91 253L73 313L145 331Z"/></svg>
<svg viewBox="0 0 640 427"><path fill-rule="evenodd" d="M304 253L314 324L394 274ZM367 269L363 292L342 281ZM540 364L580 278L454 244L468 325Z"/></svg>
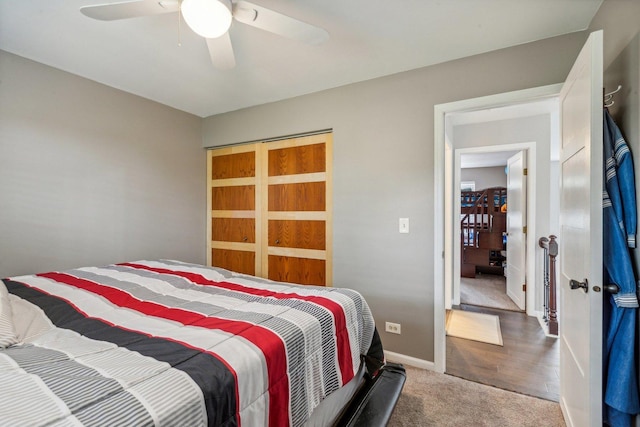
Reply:
<svg viewBox="0 0 640 427"><path fill-rule="evenodd" d="M233 17L243 24L312 45L329 39L329 33L322 28L244 0L234 3Z"/></svg>

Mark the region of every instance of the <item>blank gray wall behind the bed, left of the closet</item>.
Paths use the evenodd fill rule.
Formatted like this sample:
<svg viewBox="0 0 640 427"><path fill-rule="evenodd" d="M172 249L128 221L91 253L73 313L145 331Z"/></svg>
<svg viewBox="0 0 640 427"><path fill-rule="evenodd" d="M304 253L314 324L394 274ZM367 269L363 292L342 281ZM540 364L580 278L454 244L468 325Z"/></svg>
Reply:
<svg viewBox="0 0 640 427"><path fill-rule="evenodd" d="M0 277L204 262L201 124L0 51Z"/></svg>

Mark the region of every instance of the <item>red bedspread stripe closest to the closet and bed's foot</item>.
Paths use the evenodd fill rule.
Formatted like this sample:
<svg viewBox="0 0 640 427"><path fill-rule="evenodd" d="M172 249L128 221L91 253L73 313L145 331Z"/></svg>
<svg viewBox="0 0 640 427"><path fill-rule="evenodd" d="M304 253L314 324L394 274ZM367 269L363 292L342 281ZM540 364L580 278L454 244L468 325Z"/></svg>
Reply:
<svg viewBox="0 0 640 427"><path fill-rule="evenodd" d="M336 342L338 347L338 363L340 365L340 374L342 376L342 384L346 384L354 376L353 362L351 359L351 346L349 344L349 331L347 330L347 320L345 318L344 310L342 306L335 301L328 298L316 296L316 295L299 295L296 293L276 292L268 289L252 288L245 285L238 285L229 282L216 282L209 280L197 273L189 273L185 271L176 271L166 268L149 267L143 264L136 263L122 263L127 267L137 268L141 270L153 271L160 274L172 274L174 276L180 276L190 280L198 285L216 286L218 288L227 289L230 291L242 292L245 294L256 295L261 297L272 297L276 299L298 299L301 301L307 301L324 307L328 310L334 318L336 328Z"/></svg>

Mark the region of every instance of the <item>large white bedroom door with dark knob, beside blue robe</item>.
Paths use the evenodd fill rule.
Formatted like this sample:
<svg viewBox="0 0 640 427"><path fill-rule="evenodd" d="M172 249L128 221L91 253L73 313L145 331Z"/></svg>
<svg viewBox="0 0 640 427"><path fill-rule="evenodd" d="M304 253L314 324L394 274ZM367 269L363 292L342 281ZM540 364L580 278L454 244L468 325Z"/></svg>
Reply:
<svg viewBox="0 0 640 427"><path fill-rule="evenodd" d="M602 31L560 93L560 407L568 426L602 426ZM584 283L586 289L571 289Z"/></svg>

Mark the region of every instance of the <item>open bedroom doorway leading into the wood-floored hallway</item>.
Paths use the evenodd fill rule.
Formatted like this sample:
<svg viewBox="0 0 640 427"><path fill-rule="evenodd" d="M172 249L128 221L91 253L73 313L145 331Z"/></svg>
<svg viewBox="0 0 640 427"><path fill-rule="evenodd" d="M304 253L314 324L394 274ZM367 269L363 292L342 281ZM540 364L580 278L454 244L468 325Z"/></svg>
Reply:
<svg viewBox="0 0 640 427"><path fill-rule="evenodd" d="M537 259L539 251L536 251L535 247L539 234L547 235L551 232L552 201L549 193L552 145L554 137L558 137L557 101L553 96L548 98L543 96L544 100L539 96L532 98L529 102L520 99L515 102L515 106L505 105L504 101L492 105L488 100L489 103L485 104L484 109L477 106L473 108L463 106L459 110L450 110L444 115L442 130L446 132L444 132L443 156L445 159L443 168L445 187L443 189L443 200L445 200L443 308L462 309L473 314L498 317L498 328L502 323L501 332L505 341L498 344L485 344L475 340L459 339L457 336L443 337L442 344L446 348L443 355L443 366L446 366L446 369L443 370L466 379L557 400L559 395L557 340L547 339L538 324L542 260ZM519 195L523 202L520 208L522 216L514 225L522 234L519 241L513 234L513 227L509 228L511 236L508 236L506 225L502 226L503 230L498 226L494 227L495 222L500 223L502 212L494 215L488 210L483 211L480 214L480 222L486 220L486 226L477 227L478 220L474 221L476 227L474 231L477 233L478 230L482 230L480 238L476 239L475 235L472 237L468 229L466 234L464 233L464 225L461 224L461 215L464 214L464 202L461 200L463 199L462 186L472 187L470 184L474 181L463 172L467 168L461 167L468 160L467 156L486 156L494 159L499 156L506 156L507 159L520 156L519 163L513 165L519 165L525 169L528 191L521 192ZM508 179L508 160L506 163L495 165L502 168L505 181ZM487 196L491 202L486 204L491 204L492 208L497 209L501 209L502 205L506 204L504 209L508 212L509 203L507 200L502 200L503 193L493 190L495 187L506 188L506 182L501 182L499 185L493 184L476 185L476 194L481 190L491 190L491 195ZM505 197L505 199L508 198ZM512 197L512 202L516 199L517 197ZM493 206L494 201L497 206ZM518 209L514 206L513 210ZM504 213L506 217L506 212ZM498 239L498 236L502 239ZM482 249L484 249L486 252L483 253L483 257L487 259L482 258L482 262L476 258L474 262L466 263L473 264L473 271L468 269L468 265L465 266L465 261L468 261L464 253L465 240L476 245L478 250L474 249L474 251L483 252ZM483 248L487 240L490 241L489 246ZM514 279L512 284L512 287L519 288L522 295L510 297L517 309L509 311L501 308L487 308L480 304L466 304L464 298L461 301L460 279L465 273L473 275L474 278L492 273L496 276L502 273L504 277L509 258L512 258L512 263L515 263L517 258L517 255L513 254L507 256L509 240L512 247L519 247L523 255L520 268L523 273L522 279ZM506 293L507 278L502 280ZM447 319L449 320L450 316L447 316ZM487 345L488 347L483 347ZM436 362L438 362L437 356L436 350ZM515 360L510 361L511 356L514 356ZM539 373L536 373L536 366L534 366L536 362L533 362L530 356L544 365ZM485 362L486 364L483 365ZM542 382L536 383L538 380Z"/></svg>

